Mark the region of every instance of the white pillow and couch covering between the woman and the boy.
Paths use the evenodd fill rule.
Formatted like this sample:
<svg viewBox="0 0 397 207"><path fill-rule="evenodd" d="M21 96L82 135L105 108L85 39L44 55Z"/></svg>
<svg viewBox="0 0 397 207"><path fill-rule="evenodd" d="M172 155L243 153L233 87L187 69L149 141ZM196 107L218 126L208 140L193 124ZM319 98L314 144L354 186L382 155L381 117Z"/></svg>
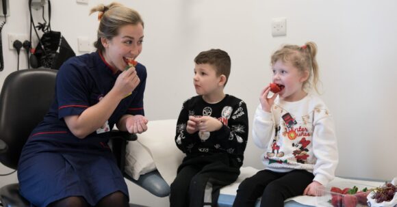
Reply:
<svg viewBox="0 0 397 207"><path fill-rule="evenodd" d="M125 172L138 180L140 175L157 169L170 184L185 154L175 144L177 120L149 121L148 130L129 141L125 155Z"/></svg>

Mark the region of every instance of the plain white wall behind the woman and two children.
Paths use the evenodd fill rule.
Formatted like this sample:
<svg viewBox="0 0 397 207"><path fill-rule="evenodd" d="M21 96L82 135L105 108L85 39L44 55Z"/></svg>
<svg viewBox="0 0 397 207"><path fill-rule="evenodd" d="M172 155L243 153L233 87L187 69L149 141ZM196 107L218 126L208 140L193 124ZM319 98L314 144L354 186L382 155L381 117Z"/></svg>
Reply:
<svg viewBox="0 0 397 207"><path fill-rule="evenodd" d="M77 52L77 37L96 36L97 15L88 16L90 8L111 1L89 0L88 5L73 0L51 2L53 30L62 31ZM144 51L138 61L148 69L145 111L149 120L177 118L183 100L195 95L194 57L200 51L220 48L232 59L225 91L247 103L252 126L259 92L270 82L271 53L283 43L311 40L318 44L321 98L337 126L337 176L385 180L397 176L396 1L119 2L136 8L145 21ZM16 70L16 53L8 50L6 34L29 32L27 3L12 1L10 10L2 33L5 70L0 72L1 85ZM271 19L277 17L287 18L287 36L271 36ZM21 68L26 68L24 55L21 52ZM261 168L260 154L250 139L244 165ZM139 204L168 206L166 198L151 197L133 184L129 187L131 199Z"/></svg>

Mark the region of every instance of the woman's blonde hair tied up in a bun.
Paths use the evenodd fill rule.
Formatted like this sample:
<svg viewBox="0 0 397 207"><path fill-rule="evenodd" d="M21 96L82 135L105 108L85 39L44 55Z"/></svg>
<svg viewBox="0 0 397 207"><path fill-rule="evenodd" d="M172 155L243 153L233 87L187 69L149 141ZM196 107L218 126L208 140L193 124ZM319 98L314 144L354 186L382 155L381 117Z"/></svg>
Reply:
<svg viewBox="0 0 397 207"><path fill-rule="evenodd" d="M127 8L120 3L110 3L110 5L99 4L92 8L90 14L99 12L98 20L100 20L97 41L94 42L95 48L98 51L103 51L105 48L101 43L101 38L111 40L114 36L118 35L118 29L125 25L138 25L144 26L140 14L131 8Z"/></svg>

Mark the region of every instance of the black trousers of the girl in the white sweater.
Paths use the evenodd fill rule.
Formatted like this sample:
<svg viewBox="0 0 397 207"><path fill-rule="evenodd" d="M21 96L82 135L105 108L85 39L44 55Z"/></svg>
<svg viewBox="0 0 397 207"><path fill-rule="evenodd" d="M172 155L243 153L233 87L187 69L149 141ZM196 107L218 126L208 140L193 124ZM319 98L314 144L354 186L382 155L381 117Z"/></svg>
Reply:
<svg viewBox="0 0 397 207"><path fill-rule="evenodd" d="M313 174L301 169L287 173L268 169L258 171L240 184L233 207L253 207L259 197L261 207L283 207L285 199L303 195L313 178Z"/></svg>

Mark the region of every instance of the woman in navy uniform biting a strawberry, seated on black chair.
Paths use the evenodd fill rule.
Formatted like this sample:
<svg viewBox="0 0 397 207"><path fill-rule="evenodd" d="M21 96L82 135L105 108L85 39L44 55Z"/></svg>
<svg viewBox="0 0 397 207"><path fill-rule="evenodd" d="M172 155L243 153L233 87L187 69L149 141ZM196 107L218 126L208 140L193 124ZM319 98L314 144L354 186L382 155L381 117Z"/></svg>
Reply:
<svg viewBox="0 0 397 207"><path fill-rule="evenodd" d="M144 23L138 12L118 3L93 12L100 20L97 51L61 66L51 109L21 154L21 195L34 206L129 206L107 141L114 124L129 133L147 129L146 68L127 64L142 51Z"/></svg>

